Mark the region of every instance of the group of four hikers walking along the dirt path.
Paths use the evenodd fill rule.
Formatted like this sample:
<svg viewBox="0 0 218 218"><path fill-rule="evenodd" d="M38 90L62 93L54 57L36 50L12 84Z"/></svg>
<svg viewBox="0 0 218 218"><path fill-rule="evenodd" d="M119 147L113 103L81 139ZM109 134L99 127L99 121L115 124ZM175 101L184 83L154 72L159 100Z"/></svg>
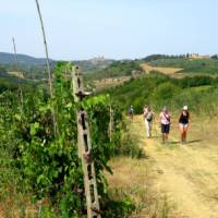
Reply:
<svg viewBox="0 0 218 218"><path fill-rule="evenodd" d="M129 116L132 121L133 121L133 114L134 114L133 106L130 106ZM149 105L144 106L143 118L145 121L146 135L149 138L152 137L153 122L155 120L155 113ZM187 137L189 123L190 123L190 112L187 106L183 106L178 122L181 134L181 143L185 144ZM164 107L159 114L159 123L161 129L162 143L165 144L168 142L168 135L170 133L170 125L171 125L171 114L167 107Z"/></svg>

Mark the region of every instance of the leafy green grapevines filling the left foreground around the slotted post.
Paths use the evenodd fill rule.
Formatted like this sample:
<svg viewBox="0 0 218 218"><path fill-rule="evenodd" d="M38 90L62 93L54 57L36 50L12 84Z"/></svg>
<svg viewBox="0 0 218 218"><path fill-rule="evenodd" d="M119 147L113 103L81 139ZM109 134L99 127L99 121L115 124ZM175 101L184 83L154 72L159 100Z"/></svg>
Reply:
<svg viewBox="0 0 218 218"><path fill-rule="evenodd" d="M109 132L110 96L75 102L71 71L70 64L57 64L53 98L49 97L46 86L23 92L23 104L16 92L8 90L0 96L0 186L3 193L0 205L12 207L7 210L1 206L1 216L20 217L23 213L25 217L28 209L34 209L34 217L86 217L83 171L77 156L76 108L81 104L88 114L100 204L107 208L109 198L102 171L111 172L108 161L119 153L124 125L122 114L112 105L113 128Z"/></svg>

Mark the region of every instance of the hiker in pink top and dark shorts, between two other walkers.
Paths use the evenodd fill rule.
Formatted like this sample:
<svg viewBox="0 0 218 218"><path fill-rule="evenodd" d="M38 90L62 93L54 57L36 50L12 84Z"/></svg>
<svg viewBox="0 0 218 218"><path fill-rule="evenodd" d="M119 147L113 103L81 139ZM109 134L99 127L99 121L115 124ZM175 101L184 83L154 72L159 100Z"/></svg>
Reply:
<svg viewBox="0 0 218 218"><path fill-rule="evenodd" d="M167 107L164 107L162 111L160 112L160 125L161 125L161 133L162 133L162 143L165 144L168 141L168 135L170 132L170 113Z"/></svg>

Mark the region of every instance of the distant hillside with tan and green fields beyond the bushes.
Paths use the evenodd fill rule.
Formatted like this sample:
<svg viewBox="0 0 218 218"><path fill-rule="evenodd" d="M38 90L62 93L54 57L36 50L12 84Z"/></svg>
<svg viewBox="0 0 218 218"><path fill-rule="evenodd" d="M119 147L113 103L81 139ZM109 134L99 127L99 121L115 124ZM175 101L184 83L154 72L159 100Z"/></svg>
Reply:
<svg viewBox="0 0 218 218"><path fill-rule="evenodd" d="M137 72L135 75L133 72ZM173 78L218 77L217 59L167 58L157 60L117 61L106 69L85 75L86 83L97 90L122 85L132 77L159 72Z"/></svg>

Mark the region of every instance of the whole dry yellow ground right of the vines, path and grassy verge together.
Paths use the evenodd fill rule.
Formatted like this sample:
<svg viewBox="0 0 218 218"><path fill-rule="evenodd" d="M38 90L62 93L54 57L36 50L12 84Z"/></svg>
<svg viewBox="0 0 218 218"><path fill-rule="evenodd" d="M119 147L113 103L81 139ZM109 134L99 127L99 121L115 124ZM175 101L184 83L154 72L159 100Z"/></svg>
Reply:
<svg viewBox="0 0 218 218"><path fill-rule="evenodd" d="M142 116L134 118L130 129L147 158L113 159L114 173L108 179L111 190L118 189L136 202L140 211L132 217L217 218L216 120L193 116L187 145L179 142L177 118L167 145L160 143L157 123L154 137L145 137Z"/></svg>

